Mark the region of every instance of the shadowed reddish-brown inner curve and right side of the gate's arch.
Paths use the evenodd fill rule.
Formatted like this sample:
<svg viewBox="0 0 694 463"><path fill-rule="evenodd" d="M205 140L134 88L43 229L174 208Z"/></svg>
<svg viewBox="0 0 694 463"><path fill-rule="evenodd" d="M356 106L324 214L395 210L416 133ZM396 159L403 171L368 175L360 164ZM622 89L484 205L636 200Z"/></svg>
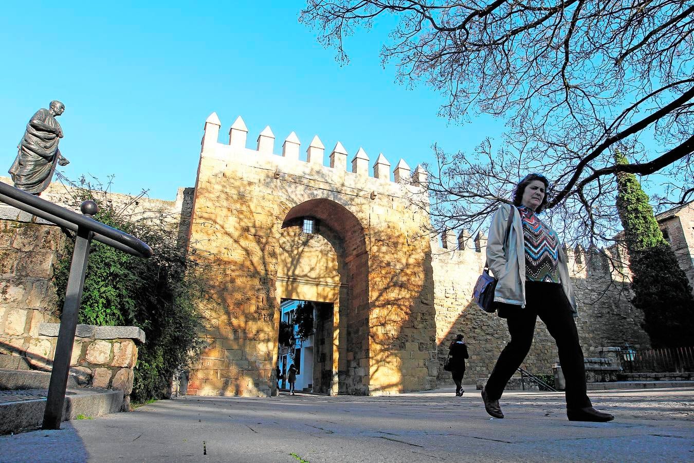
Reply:
<svg viewBox="0 0 694 463"><path fill-rule="evenodd" d="M282 229L298 225L301 217L312 217L322 228L327 227L339 237L344 278L335 303L332 323L332 379L330 394L368 394L369 369L369 253L366 229L361 221L331 199L308 199L287 210ZM280 257L281 259L281 257ZM276 296L291 297L278 278ZM296 288L296 285L294 286ZM310 293L310 292L309 292ZM296 294L296 293L295 293ZM311 300L309 296L307 299Z"/></svg>

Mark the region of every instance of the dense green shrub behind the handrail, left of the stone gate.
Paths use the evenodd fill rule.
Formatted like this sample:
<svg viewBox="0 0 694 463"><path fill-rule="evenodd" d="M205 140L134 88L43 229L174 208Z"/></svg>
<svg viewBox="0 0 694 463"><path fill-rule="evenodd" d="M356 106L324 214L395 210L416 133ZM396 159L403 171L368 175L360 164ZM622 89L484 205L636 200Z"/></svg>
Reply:
<svg viewBox="0 0 694 463"><path fill-rule="evenodd" d="M87 264L79 323L138 326L146 342L139 346L132 399L145 402L162 398L178 368L187 368L203 348L199 337L201 317L196 301L205 288L197 264L178 247L178 233L155 219L137 219L130 205L116 208L108 193L82 180L76 201L96 201L94 219L142 239L154 251L149 259L137 258L92 241ZM60 308L65 297L72 254L69 244L54 274Z"/></svg>

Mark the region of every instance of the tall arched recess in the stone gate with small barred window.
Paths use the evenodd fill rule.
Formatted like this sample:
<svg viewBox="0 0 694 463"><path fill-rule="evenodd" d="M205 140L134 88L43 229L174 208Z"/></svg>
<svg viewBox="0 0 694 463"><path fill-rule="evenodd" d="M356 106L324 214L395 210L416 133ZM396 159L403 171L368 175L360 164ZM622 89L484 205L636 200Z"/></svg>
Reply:
<svg viewBox="0 0 694 463"><path fill-rule="evenodd" d="M291 208L282 223L278 249L277 291L284 299L330 305L319 317L321 351L312 389L337 394L368 394L368 253L364 228L344 206L312 199ZM325 309L324 309L325 310ZM278 357L278 362L282 360Z"/></svg>

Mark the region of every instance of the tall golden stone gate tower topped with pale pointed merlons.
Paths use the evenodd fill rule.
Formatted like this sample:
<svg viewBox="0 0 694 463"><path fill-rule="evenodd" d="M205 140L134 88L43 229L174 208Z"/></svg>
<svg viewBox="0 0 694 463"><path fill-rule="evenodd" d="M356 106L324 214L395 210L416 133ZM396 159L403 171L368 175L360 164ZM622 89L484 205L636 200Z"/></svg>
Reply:
<svg viewBox="0 0 694 463"><path fill-rule="evenodd" d="M434 387L431 256L421 232L428 217L410 207L423 192L423 169L411 175L400 160L391 181L382 154L370 176L363 149L348 171L340 142L325 165L317 136L301 160L294 133L278 155L269 127L248 149L243 119L232 124L228 143L218 141L220 126L216 114L205 122L194 196L192 253L217 271L204 308L209 348L191 375L189 394L273 393L279 303L285 297L334 304L331 394ZM296 219L303 217L316 219L326 239L337 237L331 251L339 262L337 276L316 274L323 268L320 255L287 259L285 248L293 245L286 238L301 239L301 233L282 238L282 229L300 226Z"/></svg>

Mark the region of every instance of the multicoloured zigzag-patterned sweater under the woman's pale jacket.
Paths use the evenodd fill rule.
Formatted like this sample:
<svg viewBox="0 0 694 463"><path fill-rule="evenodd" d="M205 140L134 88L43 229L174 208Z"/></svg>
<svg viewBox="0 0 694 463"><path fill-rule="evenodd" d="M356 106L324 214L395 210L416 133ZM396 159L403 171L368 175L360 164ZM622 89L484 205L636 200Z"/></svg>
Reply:
<svg viewBox="0 0 694 463"><path fill-rule="evenodd" d="M518 212L525 241L525 280L559 283L559 235L525 205L518 206Z"/></svg>

